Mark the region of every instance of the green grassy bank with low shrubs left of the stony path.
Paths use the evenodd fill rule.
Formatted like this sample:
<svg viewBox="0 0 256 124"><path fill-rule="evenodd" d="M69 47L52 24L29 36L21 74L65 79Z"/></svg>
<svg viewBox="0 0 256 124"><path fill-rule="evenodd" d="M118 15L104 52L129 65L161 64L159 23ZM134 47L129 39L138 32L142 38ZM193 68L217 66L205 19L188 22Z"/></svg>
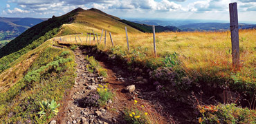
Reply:
<svg viewBox="0 0 256 124"><path fill-rule="evenodd" d="M62 100L64 92L74 84L73 52L53 48L49 43L51 41L28 52L37 57L17 83L0 93L1 123L48 123L50 118L39 118L37 114L40 111L39 102L46 99ZM28 54L19 59L26 59Z"/></svg>

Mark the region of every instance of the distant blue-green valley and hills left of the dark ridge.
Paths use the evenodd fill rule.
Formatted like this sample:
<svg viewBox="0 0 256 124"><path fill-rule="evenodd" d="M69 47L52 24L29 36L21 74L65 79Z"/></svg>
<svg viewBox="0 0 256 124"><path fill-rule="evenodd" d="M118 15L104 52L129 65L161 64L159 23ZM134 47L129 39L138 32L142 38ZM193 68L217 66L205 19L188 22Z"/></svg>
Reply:
<svg viewBox="0 0 256 124"><path fill-rule="evenodd" d="M12 39L25 32L28 28L46 19L35 18L6 18L0 17L0 48Z"/></svg>

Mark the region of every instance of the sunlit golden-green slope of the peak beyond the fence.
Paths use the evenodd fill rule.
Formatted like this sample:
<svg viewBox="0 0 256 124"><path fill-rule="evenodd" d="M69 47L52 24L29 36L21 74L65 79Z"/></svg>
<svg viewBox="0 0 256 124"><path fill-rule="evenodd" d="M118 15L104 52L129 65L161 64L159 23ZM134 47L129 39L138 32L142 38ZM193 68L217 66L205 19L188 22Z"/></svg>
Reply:
<svg viewBox="0 0 256 124"><path fill-rule="evenodd" d="M85 10L75 16L74 23L62 26L62 35L93 33L92 30L94 30L95 34L101 34L102 29L107 30L107 33L111 32L111 34L124 34L125 26L131 34L141 33L139 30L131 28L131 26L113 19L111 16L95 10Z"/></svg>

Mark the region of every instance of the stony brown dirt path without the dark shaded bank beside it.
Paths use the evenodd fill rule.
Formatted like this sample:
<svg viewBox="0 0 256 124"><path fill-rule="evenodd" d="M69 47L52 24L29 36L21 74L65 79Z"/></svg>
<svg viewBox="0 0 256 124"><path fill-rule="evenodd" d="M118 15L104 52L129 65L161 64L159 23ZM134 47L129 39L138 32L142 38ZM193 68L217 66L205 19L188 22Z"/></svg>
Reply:
<svg viewBox="0 0 256 124"><path fill-rule="evenodd" d="M132 107L134 100L137 100L140 105L145 105L145 109L153 115L155 121L159 123L174 122L163 116L161 113L163 108L159 107L157 103L143 99L143 96L140 95L142 94L140 89L136 89L133 94L124 92L127 85L134 83L136 76L122 77L124 72L120 68L100 62L100 65L106 68L108 73L107 82L104 82L102 76L87 71L88 61L84 60L85 54L82 54L82 50L77 48L74 54L77 63L77 78L75 85L64 97L60 112L55 118L57 123L125 123L124 109ZM84 107L81 105L81 99L95 90L95 86L104 83L109 83L109 89L114 92L113 101L109 101L105 107Z"/></svg>

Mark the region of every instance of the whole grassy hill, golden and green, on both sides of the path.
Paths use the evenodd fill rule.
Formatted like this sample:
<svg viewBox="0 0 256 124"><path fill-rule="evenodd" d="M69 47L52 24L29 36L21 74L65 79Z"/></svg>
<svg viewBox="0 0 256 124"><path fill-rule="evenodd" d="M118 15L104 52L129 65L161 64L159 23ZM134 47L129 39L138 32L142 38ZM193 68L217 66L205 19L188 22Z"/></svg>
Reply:
<svg viewBox="0 0 256 124"><path fill-rule="evenodd" d="M226 99L221 101L219 94L246 92L244 98L253 101L256 89L255 30L239 32L243 62L236 71L232 68L230 32L156 33L157 57L154 57L152 33L143 33L133 27L138 26L129 26L100 10L77 8L39 23L10 41L0 49L0 123L48 123L54 116L40 118L37 114L42 110L39 102L54 99L60 103L75 84L76 72L74 52L65 46L58 47L57 42L71 45L73 50L76 45L96 49L98 53L118 59L130 71L141 68L140 73L149 78L147 86L166 99L190 107L194 105L194 109L198 109L196 114L205 123L253 122L255 110L243 109L238 102L237 106L231 104L232 97L228 102ZM114 47L109 34L106 48L102 43L86 43L86 33L94 30L100 35L102 29L113 34ZM77 35L82 43L75 41ZM57 40L67 37L72 40ZM200 99L201 92L205 94L203 99L202 96ZM195 98L194 103L191 97ZM215 103L215 99L220 103Z"/></svg>

